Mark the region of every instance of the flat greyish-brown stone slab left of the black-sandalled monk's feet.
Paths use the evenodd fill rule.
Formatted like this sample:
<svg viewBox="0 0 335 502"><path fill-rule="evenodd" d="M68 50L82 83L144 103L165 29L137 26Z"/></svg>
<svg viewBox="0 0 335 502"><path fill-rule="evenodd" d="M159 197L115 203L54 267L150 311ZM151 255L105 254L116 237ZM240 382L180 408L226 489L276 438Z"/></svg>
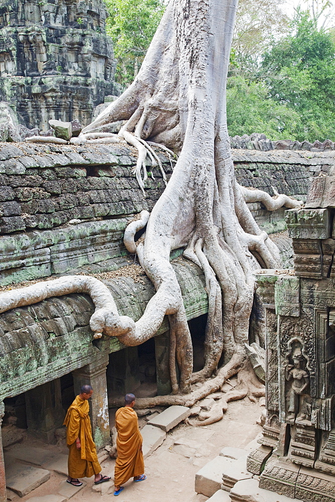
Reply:
<svg viewBox="0 0 335 502"><path fill-rule="evenodd" d="M50 472L48 470L19 462L10 464L6 469L7 487L18 493L20 497L28 495L32 490L48 481L49 478Z"/></svg>

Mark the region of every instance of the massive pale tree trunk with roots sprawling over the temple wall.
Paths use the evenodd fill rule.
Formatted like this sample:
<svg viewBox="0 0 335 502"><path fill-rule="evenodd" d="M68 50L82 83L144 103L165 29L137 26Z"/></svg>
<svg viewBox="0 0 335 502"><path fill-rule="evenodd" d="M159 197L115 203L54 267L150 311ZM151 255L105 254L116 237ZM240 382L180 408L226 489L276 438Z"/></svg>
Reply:
<svg viewBox="0 0 335 502"><path fill-rule="evenodd" d="M119 137L138 149L136 177L143 193L145 157L157 161L151 142L179 154L148 221L143 212L142 220L132 223L125 235L128 249L136 250L156 294L134 323L118 316L105 290L102 297L92 293L100 286L83 280L85 291L96 298L92 329L118 336L126 345L138 345L154 336L163 317L169 315L174 393L187 394L192 382L208 378L224 352L225 367L197 395L153 398L145 405L191 403L199 399L198 394L203 397L219 388L241 367L253 303L252 272L259 263L267 268L279 265L277 247L259 229L245 200L261 199L271 210L300 204L286 196L272 199L264 192L244 189L235 179L226 121L226 79L236 8L237 0L171 0L132 85L83 131L86 138L92 138L103 124L127 120ZM133 236L146 222L144 245L136 248ZM203 269L209 297L205 366L198 373L192 373L191 335L169 261L171 250L182 246L184 256ZM34 298L39 301L37 295Z"/></svg>

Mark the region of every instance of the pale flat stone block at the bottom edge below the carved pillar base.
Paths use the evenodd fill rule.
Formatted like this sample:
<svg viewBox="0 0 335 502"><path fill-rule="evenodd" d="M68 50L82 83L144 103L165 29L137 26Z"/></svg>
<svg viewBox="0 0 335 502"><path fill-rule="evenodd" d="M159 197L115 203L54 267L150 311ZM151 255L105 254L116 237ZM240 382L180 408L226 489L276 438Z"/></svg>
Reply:
<svg viewBox="0 0 335 502"><path fill-rule="evenodd" d="M231 502L301 502L258 486L257 479L238 481L230 490Z"/></svg>

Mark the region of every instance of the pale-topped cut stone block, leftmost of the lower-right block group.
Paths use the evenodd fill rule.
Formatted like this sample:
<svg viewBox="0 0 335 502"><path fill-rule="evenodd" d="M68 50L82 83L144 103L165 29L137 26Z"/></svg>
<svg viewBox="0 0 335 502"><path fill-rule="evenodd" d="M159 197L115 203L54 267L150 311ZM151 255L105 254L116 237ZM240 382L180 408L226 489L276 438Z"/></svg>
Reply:
<svg viewBox="0 0 335 502"><path fill-rule="evenodd" d="M221 488L222 473L234 460L226 457L215 457L196 474L195 491L207 497L214 495Z"/></svg>

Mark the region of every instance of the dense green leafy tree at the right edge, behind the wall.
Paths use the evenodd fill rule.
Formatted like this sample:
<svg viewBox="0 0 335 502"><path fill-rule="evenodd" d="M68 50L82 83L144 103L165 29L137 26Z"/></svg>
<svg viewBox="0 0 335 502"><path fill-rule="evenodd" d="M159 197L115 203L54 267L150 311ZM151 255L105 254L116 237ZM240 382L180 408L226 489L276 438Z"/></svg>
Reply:
<svg viewBox="0 0 335 502"><path fill-rule="evenodd" d="M334 139L335 45L317 29L307 12L298 11L293 34L279 41L262 62L261 78L269 96L299 116L303 127L295 139Z"/></svg>

